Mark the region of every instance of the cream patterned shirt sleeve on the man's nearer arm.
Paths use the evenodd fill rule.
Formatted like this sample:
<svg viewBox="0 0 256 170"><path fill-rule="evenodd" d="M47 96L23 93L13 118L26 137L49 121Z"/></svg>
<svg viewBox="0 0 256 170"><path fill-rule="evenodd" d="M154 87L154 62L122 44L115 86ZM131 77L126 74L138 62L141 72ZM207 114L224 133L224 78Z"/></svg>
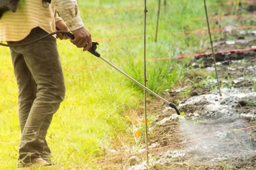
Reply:
<svg viewBox="0 0 256 170"><path fill-rule="evenodd" d="M56 10L71 31L84 26L76 0L54 0Z"/></svg>

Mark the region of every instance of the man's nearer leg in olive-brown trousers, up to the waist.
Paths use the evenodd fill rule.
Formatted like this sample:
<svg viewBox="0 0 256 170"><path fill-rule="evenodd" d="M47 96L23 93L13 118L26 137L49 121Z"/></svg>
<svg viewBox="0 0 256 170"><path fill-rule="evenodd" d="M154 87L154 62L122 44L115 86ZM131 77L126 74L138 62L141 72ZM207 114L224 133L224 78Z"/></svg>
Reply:
<svg viewBox="0 0 256 170"><path fill-rule="evenodd" d="M42 29L35 28L24 40L8 43L23 44L46 34ZM65 84L55 38L50 36L31 45L13 49L24 56L38 89L19 145L18 166L26 166L42 159L44 141L53 114L65 97Z"/></svg>

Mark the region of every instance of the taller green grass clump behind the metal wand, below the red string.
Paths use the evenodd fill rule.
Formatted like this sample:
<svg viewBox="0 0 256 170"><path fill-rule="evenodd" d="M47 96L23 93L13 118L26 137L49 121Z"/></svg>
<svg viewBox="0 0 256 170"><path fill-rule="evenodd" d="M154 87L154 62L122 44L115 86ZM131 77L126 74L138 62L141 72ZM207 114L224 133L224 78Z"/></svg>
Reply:
<svg viewBox="0 0 256 170"><path fill-rule="evenodd" d="M182 59L179 63L175 59L150 61L146 67L147 88L155 93L163 93L166 89L175 86L179 80L189 73L189 69L186 66L187 59ZM134 62L127 60L125 71L130 74L131 77L143 84L143 62ZM143 92L143 88L127 79L127 84L136 89L136 91ZM151 93L150 96L153 96Z"/></svg>

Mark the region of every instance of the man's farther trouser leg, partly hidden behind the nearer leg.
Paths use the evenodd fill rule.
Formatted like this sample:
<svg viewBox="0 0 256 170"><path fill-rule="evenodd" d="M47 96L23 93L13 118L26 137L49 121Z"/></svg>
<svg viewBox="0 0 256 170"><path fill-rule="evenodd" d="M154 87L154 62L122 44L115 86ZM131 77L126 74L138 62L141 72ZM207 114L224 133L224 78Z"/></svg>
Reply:
<svg viewBox="0 0 256 170"><path fill-rule="evenodd" d="M16 77L18 85L18 110L19 110L19 122L20 130L23 132L24 126L26 124L29 112L31 110L32 104L36 98L37 85L32 77L30 70L24 60L23 55L16 53L12 48L11 59L14 68L14 75ZM52 157L51 150L47 144L44 142L44 151L41 155L42 159L48 161Z"/></svg>

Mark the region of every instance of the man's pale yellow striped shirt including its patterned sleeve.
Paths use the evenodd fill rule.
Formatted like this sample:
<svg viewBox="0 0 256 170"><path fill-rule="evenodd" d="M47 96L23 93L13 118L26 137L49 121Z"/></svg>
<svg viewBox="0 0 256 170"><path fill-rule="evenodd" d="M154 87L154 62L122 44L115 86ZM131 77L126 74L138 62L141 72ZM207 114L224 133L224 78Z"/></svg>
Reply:
<svg viewBox="0 0 256 170"><path fill-rule="evenodd" d="M0 42L23 40L35 27L52 33L60 20L71 31L84 26L76 0L52 0L51 4L42 0L20 0L16 12L9 10L0 19Z"/></svg>

